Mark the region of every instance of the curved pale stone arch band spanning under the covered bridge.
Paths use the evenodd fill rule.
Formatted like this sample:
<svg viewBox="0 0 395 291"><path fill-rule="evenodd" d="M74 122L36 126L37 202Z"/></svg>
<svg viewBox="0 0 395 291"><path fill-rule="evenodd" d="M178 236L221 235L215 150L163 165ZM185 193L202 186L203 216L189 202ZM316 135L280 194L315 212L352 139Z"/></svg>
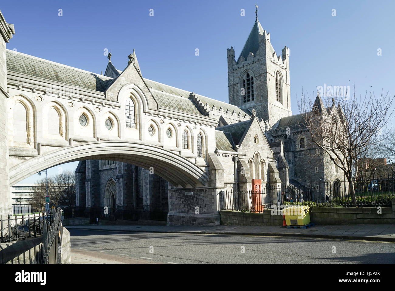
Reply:
<svg viewBox="0 0 395 291"><path fill-rule="evenodd" d="M26 160L10 168L10 185L43 169L81 160L111 160L134 164L153 170L154 174L161 176L174 186L183 188L199 185L205 187L208 180L205 171L196 164L162 147L140 142L107 141L63 147Z"/></svg>

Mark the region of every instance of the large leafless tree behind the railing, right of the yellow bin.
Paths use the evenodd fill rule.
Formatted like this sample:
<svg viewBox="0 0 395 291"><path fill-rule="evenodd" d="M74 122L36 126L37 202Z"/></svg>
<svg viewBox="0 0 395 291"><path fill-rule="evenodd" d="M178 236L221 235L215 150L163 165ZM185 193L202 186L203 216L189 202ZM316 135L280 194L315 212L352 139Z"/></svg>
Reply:
<svg viewBox="0 0 395 291"><path fill-rule="evenodd" d="M347 93L345 94L347 96ZM359 170L359 159L373 144L379 144L387 132L383 128L393 118L391 104L395 96L374 93L357 98L352 96L317 95L314 103L302 94L299 111L303 124L308 128L310 142L327 154L344 172L352 204L356 204L354 183ZM337 104L337 105L336 105ZM308 112L308 110L312 110Z"/></svg>

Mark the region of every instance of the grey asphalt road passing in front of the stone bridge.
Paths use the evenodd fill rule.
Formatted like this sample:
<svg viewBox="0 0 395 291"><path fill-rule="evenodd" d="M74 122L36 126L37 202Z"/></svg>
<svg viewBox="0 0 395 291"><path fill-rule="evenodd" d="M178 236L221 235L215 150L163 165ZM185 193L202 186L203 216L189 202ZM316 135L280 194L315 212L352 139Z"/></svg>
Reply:
<svg viewBox="0 0 395 291"><path fill-rule="evenodd" d="M73 253L120 263L395 263L395 243L69 229Z"/></svg>

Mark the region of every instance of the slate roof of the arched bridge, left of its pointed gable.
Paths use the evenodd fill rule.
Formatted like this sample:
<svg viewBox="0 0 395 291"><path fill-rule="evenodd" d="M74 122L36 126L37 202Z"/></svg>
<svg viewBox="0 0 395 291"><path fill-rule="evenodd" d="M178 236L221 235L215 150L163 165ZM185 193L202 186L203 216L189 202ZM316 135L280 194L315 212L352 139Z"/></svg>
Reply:
<svg viewBox="0 0 395 291"><path fill-rule="evenodd" d="M7 71L10 72L40 77L100 92L105 91L112 79L9 49L6 50L6 54Z"/></svg>

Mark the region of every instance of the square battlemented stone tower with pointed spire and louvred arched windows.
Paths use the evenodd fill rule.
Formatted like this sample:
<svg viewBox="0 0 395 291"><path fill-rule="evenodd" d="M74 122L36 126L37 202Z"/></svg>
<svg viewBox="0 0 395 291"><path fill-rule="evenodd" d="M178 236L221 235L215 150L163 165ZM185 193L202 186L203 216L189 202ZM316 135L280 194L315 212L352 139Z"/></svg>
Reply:
<svg viewBox="0 0 395 291"><path fill-rule="evenodd" d="M285 46L276 55L258 16L237 61L233 47L227 53L229 104L255 109L270 125L292 115L289 49Z"/></svg>

